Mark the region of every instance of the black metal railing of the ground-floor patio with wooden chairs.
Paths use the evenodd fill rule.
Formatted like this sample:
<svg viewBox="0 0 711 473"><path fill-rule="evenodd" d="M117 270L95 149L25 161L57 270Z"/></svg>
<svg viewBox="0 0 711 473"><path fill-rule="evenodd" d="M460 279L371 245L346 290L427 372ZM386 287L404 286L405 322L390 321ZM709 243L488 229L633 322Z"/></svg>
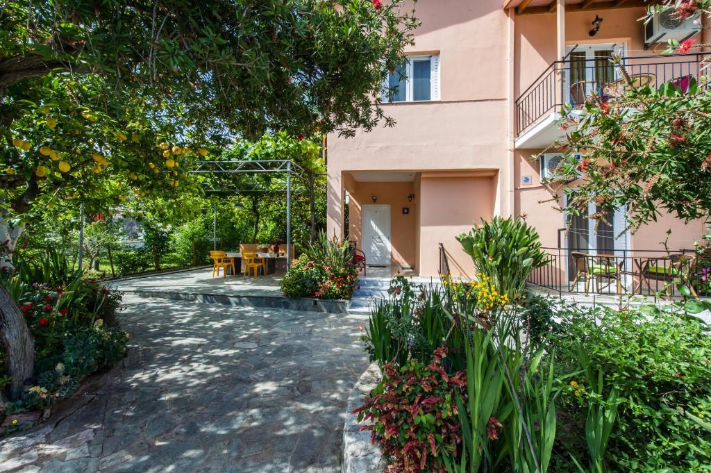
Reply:
<svg viewBox="0 0 711 473"><path fill-rule="evenodd" d="M534 270L528 282L554 292L711 295L711 255L697 255L694 250L543 250L550 262Z"/></svg>

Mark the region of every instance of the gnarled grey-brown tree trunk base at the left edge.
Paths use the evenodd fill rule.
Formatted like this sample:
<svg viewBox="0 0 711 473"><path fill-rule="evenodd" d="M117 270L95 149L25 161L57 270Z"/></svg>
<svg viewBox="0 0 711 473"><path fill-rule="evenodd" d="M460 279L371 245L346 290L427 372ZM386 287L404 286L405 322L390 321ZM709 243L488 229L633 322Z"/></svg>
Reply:
<svg viewBox="0 0 711 473"><path fill-rule="evenodd" d="M22 312L1 285L0 341L5 351L5 369L12 377L10 399L17 400L22 395L26 380L33 374L35 344Z"/></svg>

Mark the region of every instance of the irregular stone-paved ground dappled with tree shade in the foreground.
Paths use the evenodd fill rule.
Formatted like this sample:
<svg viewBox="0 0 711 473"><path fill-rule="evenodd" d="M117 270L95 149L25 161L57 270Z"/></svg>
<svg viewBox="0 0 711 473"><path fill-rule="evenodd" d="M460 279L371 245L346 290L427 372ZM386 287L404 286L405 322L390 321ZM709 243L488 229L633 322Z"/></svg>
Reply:
<svg viewBox="0 0 711 473"><path fill-rule="evenodd" d="M0 440L0 472L338 472L365 315L125 297L121 366Z"/></svg>

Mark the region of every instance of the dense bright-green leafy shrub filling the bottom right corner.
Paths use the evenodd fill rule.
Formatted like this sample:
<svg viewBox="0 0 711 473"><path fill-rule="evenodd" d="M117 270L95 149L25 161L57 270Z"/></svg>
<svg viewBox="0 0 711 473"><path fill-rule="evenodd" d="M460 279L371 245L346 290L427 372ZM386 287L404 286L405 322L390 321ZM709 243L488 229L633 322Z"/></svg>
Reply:
<svg viewBox="0 0 711 473"><path fill-rule="evenodd" d="M606 392L619 396L618 420L607 447L608 464L619 471L711 471L711 433L683 413L711 416L711 338L705 327L677 314L678 307L650 311L566 306L556 363L568 373L604 373ZM565 365L565 367L563 366ZM581 393L597 380L575 379L578 395L562 404L579 417ZM576 438L577 437L577 438ZM579 434L564 438L578 445Z"/></svg>

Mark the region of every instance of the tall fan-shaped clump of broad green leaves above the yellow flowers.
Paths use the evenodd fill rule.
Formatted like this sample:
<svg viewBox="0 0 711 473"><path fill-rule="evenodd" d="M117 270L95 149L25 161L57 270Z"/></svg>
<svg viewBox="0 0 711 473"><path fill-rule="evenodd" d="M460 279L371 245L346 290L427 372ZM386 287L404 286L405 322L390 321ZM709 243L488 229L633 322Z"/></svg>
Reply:
<svg viewBox="0 0 711 473"><path fill-rule="evenodd" d="M550 262L541 250L538 233L519 218L482 220L479 227L456 239L480 275L489 277L498 292L510 299L522 296L531 272Z"/></svg>

